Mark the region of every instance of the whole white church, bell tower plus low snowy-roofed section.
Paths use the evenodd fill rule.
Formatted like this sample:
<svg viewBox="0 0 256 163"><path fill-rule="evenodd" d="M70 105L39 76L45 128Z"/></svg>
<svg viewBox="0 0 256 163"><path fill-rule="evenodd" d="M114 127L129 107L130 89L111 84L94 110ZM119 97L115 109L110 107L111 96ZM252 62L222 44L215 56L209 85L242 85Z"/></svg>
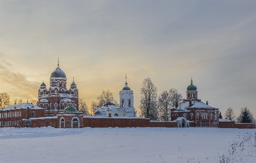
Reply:
<svg viewBox="0 0 256 163"><path fill-rule="evenodd" d="M127 86L125 82L125 87L120 90L120 107L108 102L101 108L95 110L94 116L101 117L137 117L136 110L133 107L133 91Z"/></svg>

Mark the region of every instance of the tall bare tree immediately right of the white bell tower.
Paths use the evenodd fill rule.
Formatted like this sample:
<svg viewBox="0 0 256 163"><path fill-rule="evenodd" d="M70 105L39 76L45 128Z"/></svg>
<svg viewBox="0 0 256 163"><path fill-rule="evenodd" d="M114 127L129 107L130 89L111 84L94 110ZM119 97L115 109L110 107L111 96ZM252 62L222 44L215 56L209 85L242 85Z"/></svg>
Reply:
<svg viewBox="0 0 256 163"><path fill-rule="evenodd" d="M157 94L158 89L154 86L153 82L148 77L142 83L139 89L141 92L141 117L150 118L152 120L158 119L157 112Z"/></svg>

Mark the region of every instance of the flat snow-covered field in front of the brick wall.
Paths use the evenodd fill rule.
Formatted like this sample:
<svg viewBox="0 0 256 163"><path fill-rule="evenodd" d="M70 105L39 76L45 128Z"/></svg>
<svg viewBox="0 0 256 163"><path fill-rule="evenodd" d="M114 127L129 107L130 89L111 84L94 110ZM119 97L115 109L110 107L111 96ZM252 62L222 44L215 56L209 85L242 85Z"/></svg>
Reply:
<svg viewBox="0 0 256 163"><path fill-rule="evenodd" d="M256 162L254 137L229 153L232 141L242 142L246 132L254 136L255 130L2 128L0 162L219 162L223 154L242 159L237 162Z"/></svg>

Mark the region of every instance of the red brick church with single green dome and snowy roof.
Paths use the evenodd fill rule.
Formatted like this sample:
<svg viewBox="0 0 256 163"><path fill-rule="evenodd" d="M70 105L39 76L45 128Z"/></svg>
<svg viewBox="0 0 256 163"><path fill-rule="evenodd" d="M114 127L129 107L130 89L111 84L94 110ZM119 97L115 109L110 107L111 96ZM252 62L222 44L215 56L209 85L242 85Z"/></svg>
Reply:
<svg viewBox="0 0 256 163"><path fill-rule="evenodd" d="M191 84L187 88L187 99L183 99L178 106L171 108L171 120L184 117L187 120L194 121L196 127L218 127L219 108L203 103L197 98L197 87Z"/></svg>

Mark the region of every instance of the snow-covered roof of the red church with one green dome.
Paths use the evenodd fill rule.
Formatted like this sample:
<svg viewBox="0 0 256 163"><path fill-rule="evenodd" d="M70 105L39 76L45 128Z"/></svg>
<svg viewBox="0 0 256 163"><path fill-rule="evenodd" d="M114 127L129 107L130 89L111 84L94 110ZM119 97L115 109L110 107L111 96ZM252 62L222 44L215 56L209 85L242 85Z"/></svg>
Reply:
<svg viewBox="0 0 256 163"><path fill-rule="evenodd" d="M183 101L181 103L181 106L177 107L176 111L188 111L187 108L215 108L212 107L210 105L206 105L205 103L201 102L201 101L191 101L191 106L189 106L189 101ZM172 108L176 108L176 107L172 107Z"/></svg>

